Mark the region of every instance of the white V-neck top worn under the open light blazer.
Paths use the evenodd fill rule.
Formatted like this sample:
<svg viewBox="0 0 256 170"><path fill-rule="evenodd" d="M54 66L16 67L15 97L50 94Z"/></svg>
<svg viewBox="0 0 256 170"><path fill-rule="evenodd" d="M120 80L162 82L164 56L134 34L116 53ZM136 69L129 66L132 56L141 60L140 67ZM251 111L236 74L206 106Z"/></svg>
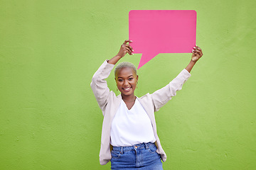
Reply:
<svg viewBox="0 0 256 170"><path fill-rule="evenodd" d="M110 137L110 144L114 147L156 142L149 116L138 99L130 110L124 101L121 101L112 121Z"/></svg>

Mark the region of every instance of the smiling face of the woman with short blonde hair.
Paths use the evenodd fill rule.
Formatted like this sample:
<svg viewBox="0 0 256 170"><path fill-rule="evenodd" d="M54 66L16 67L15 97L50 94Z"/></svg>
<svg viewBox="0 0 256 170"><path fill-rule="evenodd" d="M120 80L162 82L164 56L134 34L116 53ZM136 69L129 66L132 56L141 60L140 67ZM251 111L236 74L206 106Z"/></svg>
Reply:
<svg viewBox="0 0 256 170"><path fill-rule="evenodd" d="M117 88L122 95L134 95L134 90L136 89L138 81L138 76L135 73L134 69L132 69L131 67L124 67L122 69L118 69L115 80L117 82Z"/></svg>

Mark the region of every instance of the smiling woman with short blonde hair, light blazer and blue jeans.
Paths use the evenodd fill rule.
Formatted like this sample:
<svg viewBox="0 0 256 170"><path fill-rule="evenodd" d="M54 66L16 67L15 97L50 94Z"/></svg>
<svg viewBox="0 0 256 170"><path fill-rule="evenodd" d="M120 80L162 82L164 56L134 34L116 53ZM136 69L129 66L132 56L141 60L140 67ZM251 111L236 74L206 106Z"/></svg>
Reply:
<svg viewBox="0 0 256 170"><path fill-rule="evenodd" d="M136 67L131 63L121 63L114 70L117 89L121 92L116 96L108 89L105 79L124 55L133 55L127 42L132 40L125 40L118 54L106 60L92 77L92 91L104 116L100 164L111 161L111 169L163 169L161 160L166 161L166 154L156 133L154 112L181 90L203 53L197 45L193 47L191 62L174 80L140 98L134 95L139 79Z"/></svg>

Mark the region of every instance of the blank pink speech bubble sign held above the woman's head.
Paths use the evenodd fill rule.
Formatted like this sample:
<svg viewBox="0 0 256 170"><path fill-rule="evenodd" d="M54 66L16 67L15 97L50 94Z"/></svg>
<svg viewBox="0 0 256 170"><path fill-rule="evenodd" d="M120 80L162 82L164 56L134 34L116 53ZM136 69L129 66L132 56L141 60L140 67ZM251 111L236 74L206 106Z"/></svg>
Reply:
<svg viewBox="0 0 256 170"><path fill-rule="evenodd" d="M139 67L159 53L187 53L196 45L196 11L129 11L129 44L142 53Z"/></svg>

